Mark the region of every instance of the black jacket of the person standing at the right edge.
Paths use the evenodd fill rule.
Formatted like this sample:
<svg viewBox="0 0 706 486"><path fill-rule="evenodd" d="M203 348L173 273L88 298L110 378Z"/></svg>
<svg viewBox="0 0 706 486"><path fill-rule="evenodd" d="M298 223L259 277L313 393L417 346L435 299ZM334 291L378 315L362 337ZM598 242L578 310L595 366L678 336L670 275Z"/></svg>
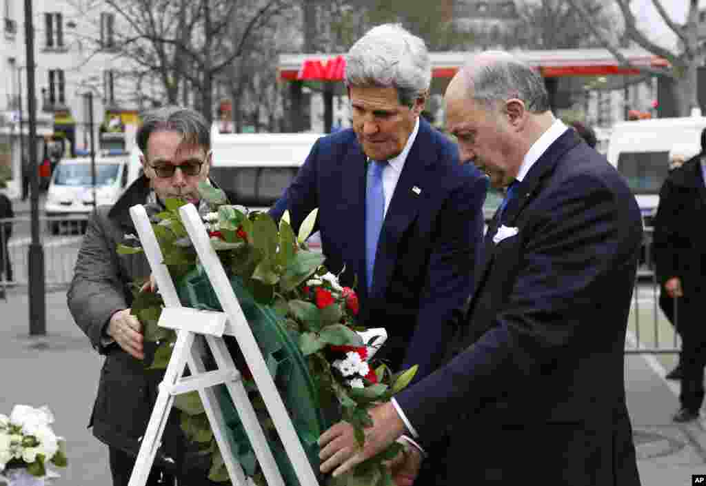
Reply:
<svg viewBox="0 0 706 486"><path fill-rule="evenodd" d="M684 291L679 299L678 321L688 324L700 319L706 295L706 186L701 172L701 155L669 172L659 191L659 206L654 218L654 256L657 280L678 277ZM669 316L673 301L662 292L660 305ZM670 318L671 320L671 318ZM679 326L681 332L683 326ZM704 336L699 323L684 328Z"/></svg>

